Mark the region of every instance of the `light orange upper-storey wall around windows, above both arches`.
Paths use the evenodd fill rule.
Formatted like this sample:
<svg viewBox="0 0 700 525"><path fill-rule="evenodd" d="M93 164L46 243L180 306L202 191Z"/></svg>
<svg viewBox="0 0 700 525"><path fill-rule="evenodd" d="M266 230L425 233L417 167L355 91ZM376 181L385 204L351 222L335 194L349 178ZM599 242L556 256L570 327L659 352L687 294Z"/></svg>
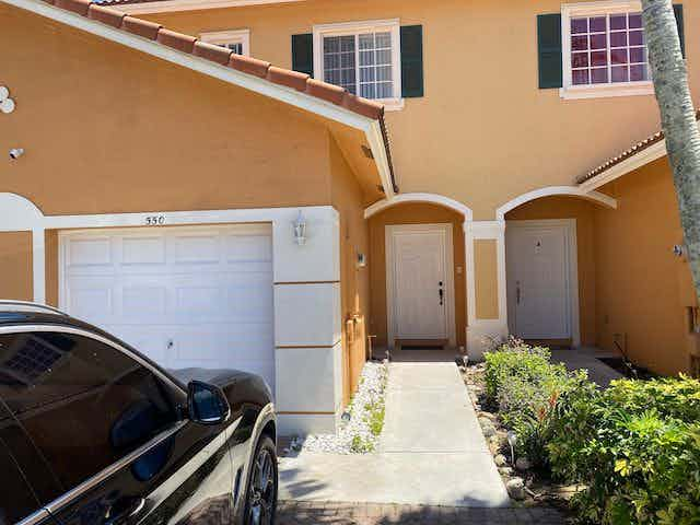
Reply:
<svg viewBox="0 0 700 525"><path fill-rule="evenodd" d="M682 4L700 93L700 1ZM422 24L425 96L387 114L399 185L491 220L512 198L570 185L660 127L653 95L563 101L559 90L537 88L536 15L560 10L560 0L307 0L148 18L189 34L247 27L253 56L282 67L291 66L291 35L314 24Z"/></svg>

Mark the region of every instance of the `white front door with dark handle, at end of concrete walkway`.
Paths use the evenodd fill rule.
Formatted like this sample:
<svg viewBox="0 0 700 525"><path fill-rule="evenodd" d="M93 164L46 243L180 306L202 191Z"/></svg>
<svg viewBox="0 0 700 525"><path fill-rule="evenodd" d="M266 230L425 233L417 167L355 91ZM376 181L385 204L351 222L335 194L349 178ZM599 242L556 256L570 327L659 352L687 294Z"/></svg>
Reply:
<svg viewBox="0 0 700 525"><path fill-rule="evenodd" d="M452 224L386 226L388 339L454 345Z"/></svg>

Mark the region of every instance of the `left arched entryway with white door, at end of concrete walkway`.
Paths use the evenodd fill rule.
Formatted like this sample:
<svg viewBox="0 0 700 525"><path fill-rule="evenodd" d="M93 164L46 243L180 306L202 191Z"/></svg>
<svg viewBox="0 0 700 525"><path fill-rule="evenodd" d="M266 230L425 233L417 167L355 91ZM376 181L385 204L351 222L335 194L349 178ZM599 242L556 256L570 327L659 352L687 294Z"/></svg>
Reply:
<svg viewBox="0 0 700 525"><path fill-rule="evenodd" d="M464 223L471 211L431 194L368 208L370 330L377 348L465 348Z"/></svg>

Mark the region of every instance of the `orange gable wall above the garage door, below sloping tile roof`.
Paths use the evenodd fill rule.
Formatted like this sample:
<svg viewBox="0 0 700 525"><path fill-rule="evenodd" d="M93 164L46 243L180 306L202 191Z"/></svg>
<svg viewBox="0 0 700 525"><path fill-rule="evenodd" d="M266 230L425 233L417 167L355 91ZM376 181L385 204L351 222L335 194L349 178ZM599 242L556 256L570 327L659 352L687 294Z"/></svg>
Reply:
<svg viewBox="0 0 700 525"><path fill-rule="evenodd" d="M0 15L0 46L15 50L3 82L18 102L0 151L26 150L3 163L1 191L45 214L330 202L318 120L19 10Z"/></svg>

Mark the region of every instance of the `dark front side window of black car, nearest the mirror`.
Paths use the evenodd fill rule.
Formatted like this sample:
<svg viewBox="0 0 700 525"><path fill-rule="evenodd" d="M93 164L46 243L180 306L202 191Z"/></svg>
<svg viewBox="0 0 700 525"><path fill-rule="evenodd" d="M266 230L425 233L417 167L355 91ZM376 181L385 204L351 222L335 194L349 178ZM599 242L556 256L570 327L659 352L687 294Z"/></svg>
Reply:
<svg viewBox="0 0 700 525"><path fill-rule="evenodd" d="M110 346L40 331L0 335L0 397L63 491L170 428L182 402Z"/></svg>

